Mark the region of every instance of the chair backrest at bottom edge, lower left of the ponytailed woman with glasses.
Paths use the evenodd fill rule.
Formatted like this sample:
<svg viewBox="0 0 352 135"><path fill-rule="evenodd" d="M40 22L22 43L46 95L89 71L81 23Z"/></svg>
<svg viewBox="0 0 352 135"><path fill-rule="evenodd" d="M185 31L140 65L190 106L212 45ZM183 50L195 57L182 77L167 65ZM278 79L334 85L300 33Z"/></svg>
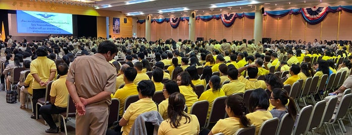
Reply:
<svg viewBox="0 0 352 135"><path fill-rule="evenodd" d="M277 117L265 120L259 129L258 135L276 134L279 120Z"/></svg>

